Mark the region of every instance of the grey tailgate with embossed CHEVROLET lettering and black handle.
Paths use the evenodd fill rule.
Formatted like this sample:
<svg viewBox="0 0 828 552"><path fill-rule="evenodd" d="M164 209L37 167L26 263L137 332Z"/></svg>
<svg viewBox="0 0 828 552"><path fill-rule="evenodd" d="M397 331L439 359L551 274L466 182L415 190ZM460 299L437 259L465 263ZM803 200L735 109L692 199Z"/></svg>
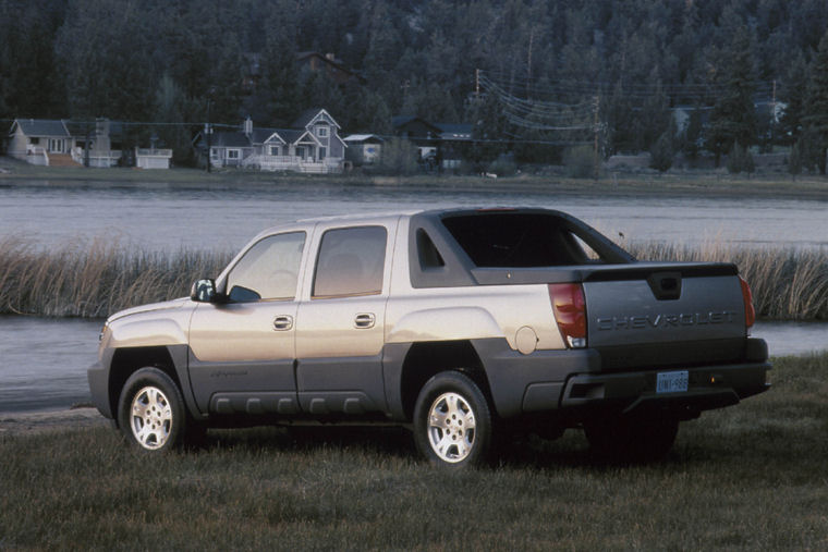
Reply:
<svg viewBox="0 0 828 552"><path fill-rule="evenodd" d="M655 265L584 281L587 342L605 368L738 361L744 299L732 265Z"/></svg>

